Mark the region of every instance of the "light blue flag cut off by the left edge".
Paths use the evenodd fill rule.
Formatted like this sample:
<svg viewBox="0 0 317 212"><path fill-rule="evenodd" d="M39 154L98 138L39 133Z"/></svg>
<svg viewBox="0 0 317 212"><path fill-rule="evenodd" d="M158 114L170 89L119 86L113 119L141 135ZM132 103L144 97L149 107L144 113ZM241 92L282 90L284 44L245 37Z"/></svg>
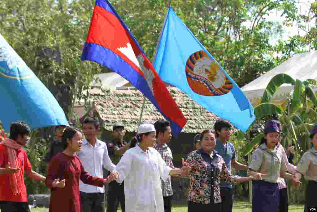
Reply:
<svg viewBox="0 0 317 212"><path fill-rule="evenodd" d="M31 129L65 125L65 113L51 92L29 69L0 34L0 119L5 131L10 123L24 121Z"/></svg>

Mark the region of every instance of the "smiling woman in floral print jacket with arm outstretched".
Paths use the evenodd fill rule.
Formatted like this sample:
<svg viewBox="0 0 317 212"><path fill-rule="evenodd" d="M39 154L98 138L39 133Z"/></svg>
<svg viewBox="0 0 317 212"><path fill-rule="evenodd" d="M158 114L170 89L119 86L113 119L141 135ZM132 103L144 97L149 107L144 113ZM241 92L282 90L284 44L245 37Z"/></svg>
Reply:
<svg viewBox="0 0 317 212"><path fill-rule="evenodd" d="M215 134L204 130L200 134L201 149L188 155L187 163L193 165L189 171L188 212L213 210L221 212L220 179L228 183L262 180L262 175L249 177L234 176L228 172L223 158L213 148L216 146Z"/></svg>

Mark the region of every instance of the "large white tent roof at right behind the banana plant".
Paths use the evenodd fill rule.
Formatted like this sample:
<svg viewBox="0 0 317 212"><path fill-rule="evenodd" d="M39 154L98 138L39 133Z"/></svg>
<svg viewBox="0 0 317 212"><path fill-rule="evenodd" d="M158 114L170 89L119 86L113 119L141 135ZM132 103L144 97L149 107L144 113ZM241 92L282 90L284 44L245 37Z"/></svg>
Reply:
<svg viewBox="0 0 317 212"><path fill-rule="evenodd" d="M281 65L276 66L271 71L266 72L241 89L252 104L258 104L270 80L275 75L281 73L288 74L293 79L299 79L301 81L317 79L317 51L295 54L292 58L289 58ZM282 85L275 92L273 100L276 103L281 102L293 89L294 86L290 84Z"/></svg>

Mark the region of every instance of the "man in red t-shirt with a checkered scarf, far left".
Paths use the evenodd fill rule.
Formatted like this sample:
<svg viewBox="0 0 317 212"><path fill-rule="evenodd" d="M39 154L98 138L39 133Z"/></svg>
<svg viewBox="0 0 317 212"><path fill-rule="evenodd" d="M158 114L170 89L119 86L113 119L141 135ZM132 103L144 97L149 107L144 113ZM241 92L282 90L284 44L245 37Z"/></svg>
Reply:
<svg viewBox="0 0 317 212"><path fill-rule="evenodd" d="M31 168L23 146L30 139L30 128L24 122L10 126L10 138L0 142L0 209L1 212L29 212L24 173L36 181L45 177Z"/></svg>

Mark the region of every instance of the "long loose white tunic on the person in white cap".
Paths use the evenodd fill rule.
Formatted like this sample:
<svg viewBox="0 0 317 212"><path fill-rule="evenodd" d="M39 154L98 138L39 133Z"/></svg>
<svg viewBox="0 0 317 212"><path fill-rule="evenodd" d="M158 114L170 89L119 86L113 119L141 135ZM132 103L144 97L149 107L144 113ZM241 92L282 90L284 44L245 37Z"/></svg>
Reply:
<svg viewBox="0 0 317 212"><path fill-rule="evenodd" d="M152 147L147 153L138 145L127 150L116 167L116 181L124 181L126 212L164 211L160 178L166 180L171 169Z"/></svg>

